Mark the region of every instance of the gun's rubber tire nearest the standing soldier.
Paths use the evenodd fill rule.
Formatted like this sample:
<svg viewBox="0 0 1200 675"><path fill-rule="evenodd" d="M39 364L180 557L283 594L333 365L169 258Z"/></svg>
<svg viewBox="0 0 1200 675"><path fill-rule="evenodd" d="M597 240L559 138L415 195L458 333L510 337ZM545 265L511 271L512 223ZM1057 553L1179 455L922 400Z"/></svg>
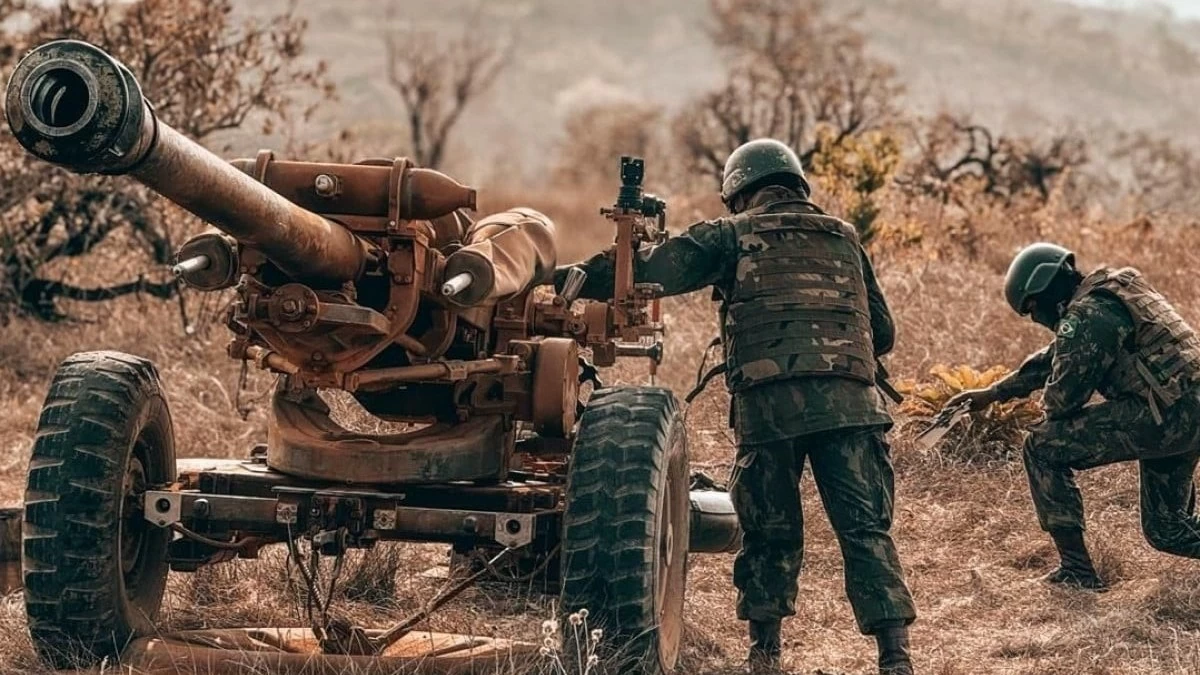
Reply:
<svg viewBox="0 0 1200 675"><path fill-rule="evenodd" d="M688 488L686 434L674 395L653 387L595 392L568 468L559 602L566 656L576 652L570 615L587 609L588 629L604 631L606 669L674 670L688 575ZM668 514L673 592L659 598Z"/></svg>

